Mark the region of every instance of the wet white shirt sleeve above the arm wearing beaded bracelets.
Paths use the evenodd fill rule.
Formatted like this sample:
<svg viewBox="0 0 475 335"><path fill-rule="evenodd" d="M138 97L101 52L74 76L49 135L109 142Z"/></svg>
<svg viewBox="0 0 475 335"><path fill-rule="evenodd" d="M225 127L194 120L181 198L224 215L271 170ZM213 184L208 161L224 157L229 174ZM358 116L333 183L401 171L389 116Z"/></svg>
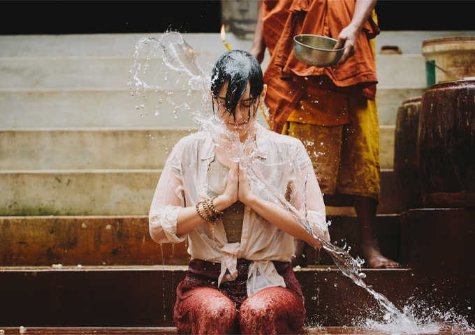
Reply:
<svg viewBox="0 0 475 335"><path fill-rule="evenodd" d="M184 185L179 159L182 146L177 144L168 158L156 186L149 211L149 232L156 243L177 244L187 238L177 235L177 220L180 209L185 207Z"/></svg>

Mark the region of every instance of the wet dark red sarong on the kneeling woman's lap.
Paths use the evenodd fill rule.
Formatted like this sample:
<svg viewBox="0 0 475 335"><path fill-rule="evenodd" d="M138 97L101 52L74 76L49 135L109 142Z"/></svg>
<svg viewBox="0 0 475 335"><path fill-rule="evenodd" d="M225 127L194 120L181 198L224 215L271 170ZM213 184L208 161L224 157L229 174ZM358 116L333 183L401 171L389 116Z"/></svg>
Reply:
<svg viewBox="0 0 475 335"><path fill-rule="evenodd" d="M173 319L178 334L298 334L305 320L302 290L290 262L274 262L286 288L247 297L249 260L238 260L238 278L221 283L220 263L190 260L178 285Z"/></svg>

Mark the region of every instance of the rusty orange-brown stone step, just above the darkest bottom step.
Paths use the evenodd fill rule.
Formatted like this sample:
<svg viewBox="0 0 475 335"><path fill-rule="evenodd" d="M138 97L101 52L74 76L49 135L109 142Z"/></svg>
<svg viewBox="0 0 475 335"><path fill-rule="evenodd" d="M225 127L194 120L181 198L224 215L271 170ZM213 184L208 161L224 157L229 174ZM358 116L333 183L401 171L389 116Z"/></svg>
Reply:
<svg viewBox="0 0 475 335"><path fill-rule="evenodd" d="M332 243L351 246L362 258L355 216L328 216ZM381 252L401 261L401 218L378 215ZM0 266L188 265L188 241L160 246L149 234L148 216L0 217ZM322 251L303 252L307 265L333 265ZM364 265L363 265L364 266Z"/></svg>

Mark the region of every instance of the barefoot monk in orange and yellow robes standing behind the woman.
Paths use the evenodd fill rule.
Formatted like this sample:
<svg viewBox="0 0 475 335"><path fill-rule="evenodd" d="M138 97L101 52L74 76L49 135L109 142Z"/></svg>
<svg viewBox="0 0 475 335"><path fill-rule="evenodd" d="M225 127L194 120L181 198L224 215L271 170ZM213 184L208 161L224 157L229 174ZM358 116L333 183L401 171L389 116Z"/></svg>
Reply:
<svg viewBox="0 0 475 335"><path fill-rule="evenodd" d="M381 255L376 211L380 191L379 121L374 41L376 0L260 0L251 54L270 63L264 73L272 131L305 145L328 206L353 206L363 257L372 268L396 268ZM313 34L344 47L335 67L304 64L293 36ZM296 252L297 254L298 252Z"/></svg>

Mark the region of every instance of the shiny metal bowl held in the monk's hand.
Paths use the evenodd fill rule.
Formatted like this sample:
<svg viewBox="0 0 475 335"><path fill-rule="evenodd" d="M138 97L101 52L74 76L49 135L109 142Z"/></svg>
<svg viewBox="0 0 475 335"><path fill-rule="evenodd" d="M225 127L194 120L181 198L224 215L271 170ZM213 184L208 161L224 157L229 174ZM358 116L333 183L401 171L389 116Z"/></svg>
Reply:
<svg viewBox="0 0 475 335"><path fill-rule="evenodd" d="M305 64L312 66L334 66L342 57L342 49L333 50L337 40L318 35L297 35L293 38L293 54Z"/></svg>

